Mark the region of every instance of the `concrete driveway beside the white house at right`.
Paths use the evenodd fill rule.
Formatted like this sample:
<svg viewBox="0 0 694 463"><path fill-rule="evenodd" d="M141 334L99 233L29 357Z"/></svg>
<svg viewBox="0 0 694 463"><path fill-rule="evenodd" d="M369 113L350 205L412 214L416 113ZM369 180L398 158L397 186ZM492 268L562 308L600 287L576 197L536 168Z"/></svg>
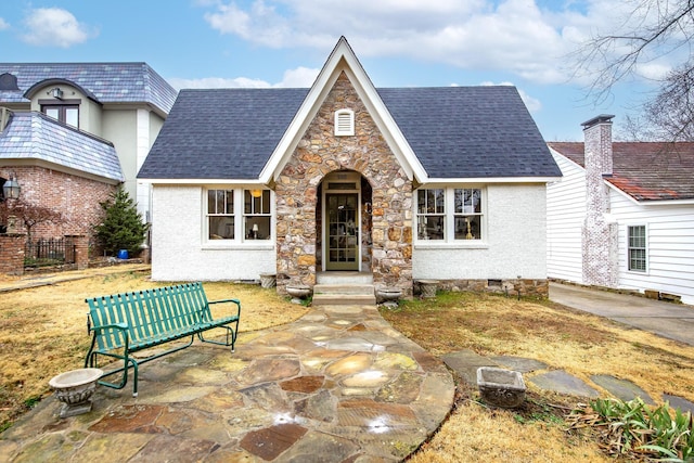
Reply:
<svg viewBox="0 0 694 463"><path fill-rule="evenodd" d="M694 307L550 283L550 300L694 346Z"/></svg>

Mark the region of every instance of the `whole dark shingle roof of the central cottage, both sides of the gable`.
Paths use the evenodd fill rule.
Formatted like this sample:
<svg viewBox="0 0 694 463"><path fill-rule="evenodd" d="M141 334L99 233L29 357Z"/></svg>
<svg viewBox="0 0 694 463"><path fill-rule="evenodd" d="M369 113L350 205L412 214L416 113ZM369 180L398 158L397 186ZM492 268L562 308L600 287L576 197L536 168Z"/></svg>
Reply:
<svg viewBox="0 0 694 463"><path fill-rule="evenodd" d="M180 91L138 177L257 179L308 91ZM377 91L429 178L561 177L514 87Z"/></svg>

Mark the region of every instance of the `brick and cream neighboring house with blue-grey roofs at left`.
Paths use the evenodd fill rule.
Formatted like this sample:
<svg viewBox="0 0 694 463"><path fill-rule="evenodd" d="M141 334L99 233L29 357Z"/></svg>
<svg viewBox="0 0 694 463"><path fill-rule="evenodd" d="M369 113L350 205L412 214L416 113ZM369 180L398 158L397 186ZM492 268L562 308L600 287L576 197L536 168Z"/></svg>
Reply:
<svg viewBox="0 0 694 463"><path fill-rule="evenodd" d="M36 237L91 234L99 203L123 183L150 214L136 176L176 99L145 63L0 63L0 183L63 214Z"/></svg>

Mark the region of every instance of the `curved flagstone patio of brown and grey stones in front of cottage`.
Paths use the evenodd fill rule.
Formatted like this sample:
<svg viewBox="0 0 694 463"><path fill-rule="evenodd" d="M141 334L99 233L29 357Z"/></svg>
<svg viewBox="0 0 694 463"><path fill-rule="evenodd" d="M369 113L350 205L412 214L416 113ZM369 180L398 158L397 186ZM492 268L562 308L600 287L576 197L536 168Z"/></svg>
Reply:
<svg viewBox="0 0 694 463"><path fill-rule="evenodd" d="M444 363L375 307L313 309L242 333L236 352L195 344L142 365L139 397L100 387L92 412L53 397L0 435L9 461L388 462L453 403Z"/></svg>

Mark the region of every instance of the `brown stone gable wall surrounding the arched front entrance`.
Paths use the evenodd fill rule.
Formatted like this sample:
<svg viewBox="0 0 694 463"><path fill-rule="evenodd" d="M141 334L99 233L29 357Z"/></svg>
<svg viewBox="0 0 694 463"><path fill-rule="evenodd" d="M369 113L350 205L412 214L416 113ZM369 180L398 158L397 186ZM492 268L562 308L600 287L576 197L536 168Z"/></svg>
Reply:
<svg viewBox="0 0 694 463"><path fill-rule="evenodd" d="M355 136L334 136L334 113L355 112ZM316 284L318 187L334 170L360 172L372 187L372 261L376 286L412 295L412 182L343 73L277 179L278 291ZM369 270L369 269L363 269Z"/></svg>

